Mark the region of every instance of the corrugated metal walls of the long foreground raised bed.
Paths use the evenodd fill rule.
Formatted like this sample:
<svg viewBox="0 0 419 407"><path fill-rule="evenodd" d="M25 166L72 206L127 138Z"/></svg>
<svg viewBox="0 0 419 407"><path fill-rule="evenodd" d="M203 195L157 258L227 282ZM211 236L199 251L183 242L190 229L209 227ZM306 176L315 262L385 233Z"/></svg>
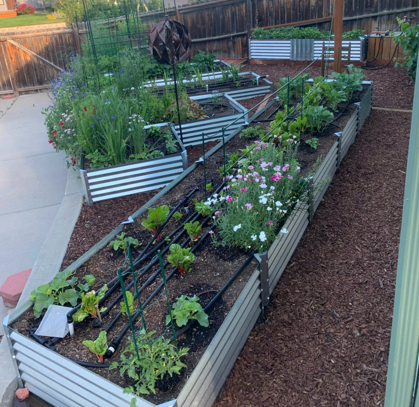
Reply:
<svg viewBox="0 0 419 407"><path fill-rule="evenodd" d="M371 82L364 83L370 84L370 90L372 90ZM326 176L333 177L341 160L339 153L342 146L352 143L354 134L356 135L360 130L358 118L369 114L371 104L362 102L313 176L315 191L321 179L324 179ZM354 123L357 128L355 133ZM221 143L214 147L210 153L215 152L220 147ZM174 183L168 185L145 206L151 206L153 202L173 188L181 179L185 178L196 166L196 163L192 165ZM285 270L327 187L328 183L321 184L318 190L310 194L307 201L303 202L303 207L293 211L284 225L288 233L281 240L275 240L267 252L255 255L260 262L259 266L252 273L248 283L177 399L159 404L158 407L171 407L173 405L177 407L211 407L263 307L268 304L269 296ZM132 217L135 218L145 211L145 206L133 214ZM116 228L114 232L89 250L82 258L76 260L69 268L75 269L80 267L101 247L109 243L121 230L122 227ZM21 307L5 317L3 322L20 386L23 386L23 382L25 382L25 386L29 391L55 406L85 407L98 405L128 407L132 395L123 394L121 387L103 379L103 377L88 369L80 367L64 356L52 352L10 328L10 325L31 308L32 305L31 301L26 301ZM137 406L155 407L155 404L137 397Z"/></svg>

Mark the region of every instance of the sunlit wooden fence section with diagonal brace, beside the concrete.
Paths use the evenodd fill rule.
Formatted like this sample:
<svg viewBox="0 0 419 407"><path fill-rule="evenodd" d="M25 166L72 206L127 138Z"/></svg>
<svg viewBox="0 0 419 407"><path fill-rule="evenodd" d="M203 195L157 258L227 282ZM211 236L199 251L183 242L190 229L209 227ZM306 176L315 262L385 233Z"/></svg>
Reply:
<svg viewBox="0 0 419 407"><path fill-rule="evenodd" d="M35 93L49 88L76 52L71 28L0 33L0 95Z"/></svg>

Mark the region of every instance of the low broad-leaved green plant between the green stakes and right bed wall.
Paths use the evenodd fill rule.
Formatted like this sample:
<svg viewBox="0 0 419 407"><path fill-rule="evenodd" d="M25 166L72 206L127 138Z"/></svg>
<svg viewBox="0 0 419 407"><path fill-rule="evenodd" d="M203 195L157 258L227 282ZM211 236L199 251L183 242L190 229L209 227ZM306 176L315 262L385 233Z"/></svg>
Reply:
<svg viewBox="0 0 419 407"><path fill-rule="evenodd" d="M176 325L178 327L186 325L191 319L195 319L199 325L202 325L203 327L209 325L208 315L205 314L201 304L199 304L199 297L196 295L193 297L182 295L176 299L177 301L172 305L173 311L171 311L171 314L172 319L176 320ZM169 323L170 315L167 315L166 324Z"/></svg>

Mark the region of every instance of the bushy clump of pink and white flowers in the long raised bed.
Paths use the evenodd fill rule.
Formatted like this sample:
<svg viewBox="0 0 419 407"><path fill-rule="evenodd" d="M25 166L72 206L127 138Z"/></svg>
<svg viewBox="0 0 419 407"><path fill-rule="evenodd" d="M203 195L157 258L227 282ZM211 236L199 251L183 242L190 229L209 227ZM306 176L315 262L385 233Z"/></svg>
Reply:
<svg viewBox="0 0 419 407"><path fill-rule="evenodd" d="M212 235L216 245L264 251L278 234L287 233L280 228L292 210L308 200L308 181L300 176L293 144L285 150L274 143L256 142L252 147L227 175L225 191L207 204L217 214L218 230Z"/></svg>

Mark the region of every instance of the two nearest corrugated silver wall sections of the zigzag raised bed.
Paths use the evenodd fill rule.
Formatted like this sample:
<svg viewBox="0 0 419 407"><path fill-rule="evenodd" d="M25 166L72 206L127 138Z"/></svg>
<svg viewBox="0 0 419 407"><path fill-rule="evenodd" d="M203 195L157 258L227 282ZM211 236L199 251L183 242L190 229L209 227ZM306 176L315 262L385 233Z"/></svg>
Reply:
<svg viewBox="0 0 419 407"><path fill-rule="evenodd" d="M191 97L191 99L198 100L200 103L209 100L209 98L209 95ZM235 124L225 130L225 136L233 134L244 124L247 124L246 109L230 96L225 95L225 98L238 112L182 123L183 143L179 135L179 126L174 125L171 127L181 147L182 151L180 153L99 168L97 170L83 170L83 160L81 160L80 168L82 169L80 170L80 176L86 203L91 206L93 202L126 196L132 193L151 191L171 183L188 168L188 157L185 147L202 143L202 133L204 133L205 142L207 142L214 139L222 139L222 127L228 126L232 121L236 120ZM160 123L156 126L163 127L167 125L168 123Z"/></svg>

